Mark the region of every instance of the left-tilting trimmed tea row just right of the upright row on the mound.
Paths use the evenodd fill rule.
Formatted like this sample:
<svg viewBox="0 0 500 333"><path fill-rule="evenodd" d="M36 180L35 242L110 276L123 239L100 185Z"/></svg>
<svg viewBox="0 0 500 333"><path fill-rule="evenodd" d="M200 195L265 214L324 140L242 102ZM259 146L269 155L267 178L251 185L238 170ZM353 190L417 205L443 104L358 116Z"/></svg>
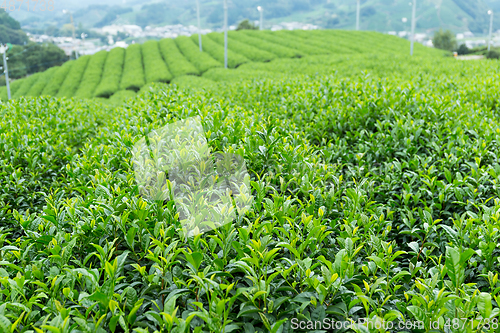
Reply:
<svg viewBox="0 0 500 333"><path fill-rule="evenodd" d="M147 83L172 81L173 76L163 61L157 41L148 41L142 44L142 54Z"/></svg>

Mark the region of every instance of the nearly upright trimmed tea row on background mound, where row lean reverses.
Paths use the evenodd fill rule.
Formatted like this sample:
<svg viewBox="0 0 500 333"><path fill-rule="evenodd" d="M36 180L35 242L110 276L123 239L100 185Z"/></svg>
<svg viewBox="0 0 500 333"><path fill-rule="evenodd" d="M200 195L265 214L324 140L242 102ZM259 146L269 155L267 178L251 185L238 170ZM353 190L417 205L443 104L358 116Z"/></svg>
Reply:
<svg viewBox="0 0 500 333"><path fill-rule="evenodd" d="M125 52L120 89L138 91L145 84L141 45L132 44Z"/></svg>

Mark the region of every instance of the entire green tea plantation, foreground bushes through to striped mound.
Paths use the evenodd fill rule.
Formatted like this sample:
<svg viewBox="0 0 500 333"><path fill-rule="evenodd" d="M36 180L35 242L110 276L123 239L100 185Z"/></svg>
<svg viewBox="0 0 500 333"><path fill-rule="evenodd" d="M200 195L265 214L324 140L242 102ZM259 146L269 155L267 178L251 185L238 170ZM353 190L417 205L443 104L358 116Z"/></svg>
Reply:
<svg viewBox="0 0 500 333"><path fill-rule="evenodd" d="M0 332L498 332L499 63L380 36L235 33L234 70L220 35L180 37L24 80L0 104ZM131 159L192 116L255 200L186 237Z"/></svg>

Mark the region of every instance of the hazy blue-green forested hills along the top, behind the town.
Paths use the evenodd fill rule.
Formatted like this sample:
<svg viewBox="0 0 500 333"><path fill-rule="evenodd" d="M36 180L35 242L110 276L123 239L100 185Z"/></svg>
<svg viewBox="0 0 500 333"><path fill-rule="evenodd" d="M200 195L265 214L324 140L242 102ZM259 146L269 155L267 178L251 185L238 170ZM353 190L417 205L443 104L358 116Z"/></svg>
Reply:
<svg viewBox="0 0 500 333"><path fill-rule="evenodd" d="M222 0L200 0L202 24L207 28L222 27ZM411 0L361 0L361 28L376 31L410 29ZM231 0L229 24L244 19L258 20L257 6L264 8L267 27L286 21L316 24L323 28L353 29L356 22L356 0ZM418 0L418 31L432 32L439 28L455 32L470 30L484 34L488 30L488 9L500 12L500 0ZM68 17L62 13L39 15L13 12L23 26L62 25ZM38 15L36 18L33 15ZM18 17L19 16L19 17ZM92 28L108 24L148 25L196 24L195 0L127 0L96 5L82 2L74 9L77 25ZM500 29L496 20L495 30Z"/></svg>

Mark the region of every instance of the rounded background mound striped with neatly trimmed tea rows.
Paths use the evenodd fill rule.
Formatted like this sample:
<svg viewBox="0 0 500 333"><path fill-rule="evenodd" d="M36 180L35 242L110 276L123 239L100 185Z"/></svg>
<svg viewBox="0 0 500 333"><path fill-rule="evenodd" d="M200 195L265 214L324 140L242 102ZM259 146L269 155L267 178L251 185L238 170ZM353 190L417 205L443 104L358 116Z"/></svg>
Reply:
<svg viewBox="0 0 500 333"><path fill-rule="evenodd" d="M203 75L223 67L222 34L203 36L204 52L199 51L198 36L133 44L126 50L115 48L93 56L69 61L50 73L17 80L11 85L12 96L52 95L66 97L103 97L121 91L139 91L152 82L171 82L183 75ZM376 32L354 31L232 31L229 33L228 67L245 64L279 63L287 58L347 54L407 54L409 42ZM441 51L416 44L417 55L441 54ZM272 67L272 66L271 66ZM7 98L5 87L0 98Z"/></svg>

